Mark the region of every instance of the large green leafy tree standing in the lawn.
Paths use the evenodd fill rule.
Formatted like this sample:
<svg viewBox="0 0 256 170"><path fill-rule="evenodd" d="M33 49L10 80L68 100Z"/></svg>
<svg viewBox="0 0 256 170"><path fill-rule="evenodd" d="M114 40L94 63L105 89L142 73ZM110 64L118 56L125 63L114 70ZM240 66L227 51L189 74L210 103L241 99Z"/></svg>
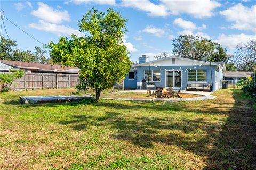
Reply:
<svg viewBox="0 0 256 170"><path fill-rule="evenodd" d="M112 9L103 13L93 8L79 21L84 37L73 35L70 40L61 37L58 43L49 44L53 62L79 67L81 84L77 88L95 89L97 101L103 89L124 79L131 68L129 52L122 40L127 31L126 21Z"/></svg>

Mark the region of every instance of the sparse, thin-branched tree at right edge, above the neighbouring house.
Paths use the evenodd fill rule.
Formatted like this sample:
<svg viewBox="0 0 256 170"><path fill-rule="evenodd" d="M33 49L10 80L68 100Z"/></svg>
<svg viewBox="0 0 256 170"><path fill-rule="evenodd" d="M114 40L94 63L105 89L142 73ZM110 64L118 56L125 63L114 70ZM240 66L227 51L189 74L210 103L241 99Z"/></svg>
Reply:
<svg viewBox="0 0 256 170"><path fill-rule="evenodd" d="M235 52L235 64L238 71L253 71L256 66L256 40L238 44Z"/></svg>

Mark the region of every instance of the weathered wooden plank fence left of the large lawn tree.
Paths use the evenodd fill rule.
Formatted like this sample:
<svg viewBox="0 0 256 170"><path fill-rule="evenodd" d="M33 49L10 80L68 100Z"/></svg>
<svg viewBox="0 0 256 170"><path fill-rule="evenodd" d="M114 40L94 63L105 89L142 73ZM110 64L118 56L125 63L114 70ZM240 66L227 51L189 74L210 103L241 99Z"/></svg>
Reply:
<svg viewBox="0 0 256 170"><path fill-rule="evenodd" d="M0 72L9 73L9 72ZM10 90L59 89L75 87L79 84L77 74L25 73L15 79Z"/></svg>

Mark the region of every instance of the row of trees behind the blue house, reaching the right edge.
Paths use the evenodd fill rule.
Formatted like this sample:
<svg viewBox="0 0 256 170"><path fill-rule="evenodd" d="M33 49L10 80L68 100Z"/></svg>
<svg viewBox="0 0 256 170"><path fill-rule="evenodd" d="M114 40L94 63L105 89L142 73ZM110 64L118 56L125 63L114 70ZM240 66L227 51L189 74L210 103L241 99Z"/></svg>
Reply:
<svg viewBox="0 0 256 170"><path fill-rule="evenodd" d="M256 71L256 40L238 44L228 55L219 43L198 36L180 35L173 40L173 54L207 62L225 62L227 71Z"/></svg>

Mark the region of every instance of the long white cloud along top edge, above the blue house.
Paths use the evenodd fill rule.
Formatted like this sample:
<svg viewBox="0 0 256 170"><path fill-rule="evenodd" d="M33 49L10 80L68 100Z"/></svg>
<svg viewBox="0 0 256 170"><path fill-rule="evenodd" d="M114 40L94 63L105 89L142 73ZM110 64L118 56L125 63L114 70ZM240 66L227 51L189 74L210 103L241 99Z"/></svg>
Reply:
<svg viewBox="0 0 256 170"><path fill-rule="evenodd" d="M123 0L121 6L132 7L141 11L146 11L149 16L189 14L193 15L195 18L203 18L213 16L213 10L217 7L220 7L221 4L219 2L211 0L161 0L159 4L154 4L149 0Z"/></svg>

